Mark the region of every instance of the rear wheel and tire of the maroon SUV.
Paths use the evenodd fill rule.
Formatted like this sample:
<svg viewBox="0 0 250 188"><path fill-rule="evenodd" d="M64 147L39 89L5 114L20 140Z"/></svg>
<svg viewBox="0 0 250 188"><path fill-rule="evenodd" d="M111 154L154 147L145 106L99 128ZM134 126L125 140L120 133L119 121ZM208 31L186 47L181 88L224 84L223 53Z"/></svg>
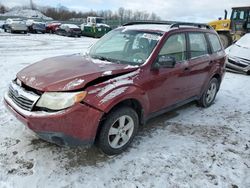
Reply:
<svg viewBox="0 0 250 188"><path fill-rule="evenodd" d="M208 84L208 87L205 89L198 101L199 105L204 108L211 106L215 100L218 90L219 81L217 78L212 78Z"/></svg>

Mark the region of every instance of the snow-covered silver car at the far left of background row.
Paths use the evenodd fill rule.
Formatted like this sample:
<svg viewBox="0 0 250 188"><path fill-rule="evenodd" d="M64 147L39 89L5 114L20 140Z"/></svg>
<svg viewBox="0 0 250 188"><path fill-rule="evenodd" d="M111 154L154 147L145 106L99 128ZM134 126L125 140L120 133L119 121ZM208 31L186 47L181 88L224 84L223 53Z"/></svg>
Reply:
<svg viewBox="0 0 250 188"><path fill-rule="evenodd" d="M25 22L21 19L7 19L5 24L3 25L3 29L5 32L10 33L27 33L28 28Z"/></svg>

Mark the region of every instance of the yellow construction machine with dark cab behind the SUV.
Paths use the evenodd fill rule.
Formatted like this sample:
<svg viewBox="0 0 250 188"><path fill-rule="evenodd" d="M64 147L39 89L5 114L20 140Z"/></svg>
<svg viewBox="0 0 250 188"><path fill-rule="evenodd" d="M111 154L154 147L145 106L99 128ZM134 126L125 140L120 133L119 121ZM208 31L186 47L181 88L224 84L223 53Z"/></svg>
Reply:
<svg viewBox="0 0 250 188"><path fill-rule="evenodd" d="M244 34L250 33L250 6L233 7L230 19L227 19L227 10L225 10L224 19L219 18L208 24L218 32L226 48Z"/></svg>

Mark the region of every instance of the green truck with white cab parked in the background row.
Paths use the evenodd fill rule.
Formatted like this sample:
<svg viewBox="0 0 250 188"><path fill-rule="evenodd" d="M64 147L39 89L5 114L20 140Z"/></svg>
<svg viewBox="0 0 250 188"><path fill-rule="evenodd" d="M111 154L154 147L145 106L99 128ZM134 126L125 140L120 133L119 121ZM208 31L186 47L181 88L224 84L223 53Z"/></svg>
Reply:
<svg viewBox="0 0 250 188"><path fill-rule="evenodd" d="M109 25L104 24L101 17L88 17L87 23L81 25L82 35L99 38L111 31Z"/></svg>

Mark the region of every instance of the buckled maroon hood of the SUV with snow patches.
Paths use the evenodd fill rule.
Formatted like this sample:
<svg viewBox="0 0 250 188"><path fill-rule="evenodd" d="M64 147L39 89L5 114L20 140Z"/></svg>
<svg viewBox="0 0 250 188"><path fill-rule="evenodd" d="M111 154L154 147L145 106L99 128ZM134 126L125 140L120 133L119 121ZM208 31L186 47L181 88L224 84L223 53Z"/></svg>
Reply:
<svg viewBox="0 0 250 188"><path fill-rule="evenodd" d="M126 74L136 66L109 63L77 55L59 56L34 63L17 74L25 85L39 91L73 91L100 77Z"/></svg>

